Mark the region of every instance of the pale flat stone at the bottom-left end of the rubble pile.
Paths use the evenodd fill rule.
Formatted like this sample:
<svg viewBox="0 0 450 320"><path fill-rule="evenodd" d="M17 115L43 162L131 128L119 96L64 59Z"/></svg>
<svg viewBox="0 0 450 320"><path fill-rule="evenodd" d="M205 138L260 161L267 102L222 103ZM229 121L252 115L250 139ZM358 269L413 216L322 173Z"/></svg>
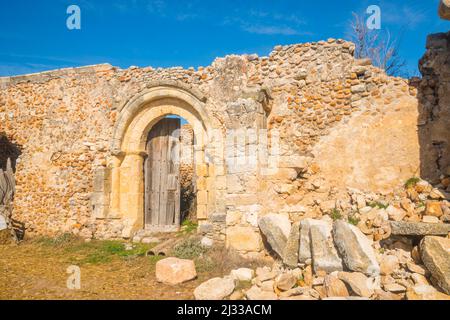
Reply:
<svg viewBox="0 0 450 320"><path fill-rule="evenodd" d="M236 287L231 277L212 278L194 290L196 300L223 300L233 293Z"/></svg>

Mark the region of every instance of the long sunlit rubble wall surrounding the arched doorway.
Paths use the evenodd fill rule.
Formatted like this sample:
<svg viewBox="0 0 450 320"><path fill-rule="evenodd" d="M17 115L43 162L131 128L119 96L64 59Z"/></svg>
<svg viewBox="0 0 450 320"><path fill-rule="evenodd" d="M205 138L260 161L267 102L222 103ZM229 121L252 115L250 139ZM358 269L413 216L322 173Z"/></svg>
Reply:
<svg viewBox="0 0 450 320"><path fill-rule="evenodd" d="M218 58L197 70L97 65L0 78L0 131L22 150L15 217L29 235L130 237L139 215L115 209L119 192L121 208L139 212L129 199L140 185L129 187L126 177L138 177L133 170L141 156L123 157L116 134L145 119L122 121L132 116L127 106L141 100L137 111L180 110L200 119L191 123L196 137L199 130L215 132L194 147L208 158L196 162L197 217L201 232L227 238L239 251L263 249L257 227L263 214L298 220L349 186L373 192L401 186L420 169L417 90L353 52L354 44L329 39L278 46L268 57ZM161 98L145 101L146 90L160 90ZM243 148L229 139L236 132L245 137ZM125 135L119 148L133 137ZM269 162L255 151L265 138ZM231 165L244 154L255 155L255 163Z"/></svg>

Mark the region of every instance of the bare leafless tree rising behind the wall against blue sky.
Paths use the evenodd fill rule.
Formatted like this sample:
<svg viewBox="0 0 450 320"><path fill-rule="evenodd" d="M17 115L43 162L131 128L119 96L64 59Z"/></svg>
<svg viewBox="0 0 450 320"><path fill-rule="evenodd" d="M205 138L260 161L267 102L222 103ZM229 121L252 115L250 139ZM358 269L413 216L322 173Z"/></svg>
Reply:
<svg viewBox="0 0 450 320"><path fill-rule="evenodd" d="M369 58L390 76L404 74L406 61L399 55L399 39L392 38L389 30L370 30L364 15L353 13L351 40L356 45L355 57Z"/></svg>

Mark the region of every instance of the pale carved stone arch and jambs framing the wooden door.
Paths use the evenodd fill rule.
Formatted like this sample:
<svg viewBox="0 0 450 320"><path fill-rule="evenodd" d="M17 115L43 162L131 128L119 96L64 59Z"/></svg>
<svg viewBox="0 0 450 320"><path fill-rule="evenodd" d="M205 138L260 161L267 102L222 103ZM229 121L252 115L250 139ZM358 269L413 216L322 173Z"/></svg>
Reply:
<svg viewBox="0 0 450 320"><path fill-rule="evenodd" d="M123 237L143 228L145 144L152 127L167 115L186 119L194 130L194 159L197 179L197 218L207 219L214 211L216 173L206 161L205 150L213 134L213 118L206 99L198 92L173 85L155 86L127 101L121 108L111 146L110 217L123 220Z"/></svg>

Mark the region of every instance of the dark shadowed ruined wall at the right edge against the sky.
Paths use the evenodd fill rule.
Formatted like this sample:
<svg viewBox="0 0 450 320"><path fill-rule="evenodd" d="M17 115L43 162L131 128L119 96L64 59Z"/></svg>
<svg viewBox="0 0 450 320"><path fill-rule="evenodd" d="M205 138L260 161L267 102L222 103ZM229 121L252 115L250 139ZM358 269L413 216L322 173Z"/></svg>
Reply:
<svg viewBox="0 0 450 320"><path fill-rule="evenodd" d="M430 35L420 60L419 137L423 177L450 174L450 32Z"/></svg>

